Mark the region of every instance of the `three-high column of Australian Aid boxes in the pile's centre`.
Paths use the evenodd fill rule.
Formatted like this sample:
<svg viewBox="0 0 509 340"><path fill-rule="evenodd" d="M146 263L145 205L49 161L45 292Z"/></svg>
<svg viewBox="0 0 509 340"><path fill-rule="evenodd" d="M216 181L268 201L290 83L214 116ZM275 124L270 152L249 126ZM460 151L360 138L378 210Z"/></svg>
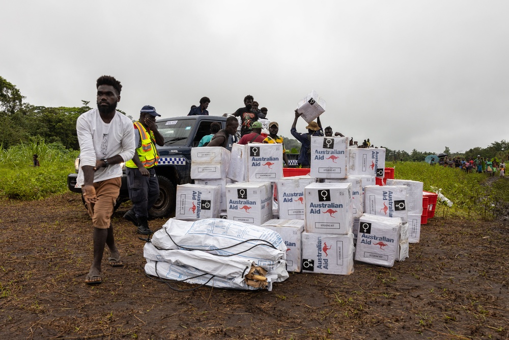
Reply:
<svg viewBox="0 0 509 340"><path fill-rule="evenodd" d="M348 169L348 137L312 137L312 177L343 179ZM353 272L352 185L312 183L305 187L302 271L349 275Z"/></svg>

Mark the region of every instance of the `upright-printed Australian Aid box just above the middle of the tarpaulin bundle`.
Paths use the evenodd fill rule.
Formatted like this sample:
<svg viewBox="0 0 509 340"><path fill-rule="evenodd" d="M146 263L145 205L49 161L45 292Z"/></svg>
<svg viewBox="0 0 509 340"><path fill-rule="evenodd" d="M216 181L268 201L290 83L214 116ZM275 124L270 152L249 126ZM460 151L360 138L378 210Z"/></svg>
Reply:
<svg viewBox="0 0 509 340"><path fill-rule="evenodd" d="M272 219L270 182L238 182L226 186L228 219L262 225Z"/></svg>

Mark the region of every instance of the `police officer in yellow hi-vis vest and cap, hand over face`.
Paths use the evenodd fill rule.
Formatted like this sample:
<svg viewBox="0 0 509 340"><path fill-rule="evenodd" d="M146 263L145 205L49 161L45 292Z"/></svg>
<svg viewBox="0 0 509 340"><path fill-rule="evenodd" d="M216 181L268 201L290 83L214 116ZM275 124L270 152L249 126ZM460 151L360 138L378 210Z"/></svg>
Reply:
<svg viewBox="0 0 509 340"><path fill-rule="evenodd" d="M156 125L156 117L160 116L150 105L140 110L139 120L134 122L136 151L133 159L126 163L127 187L132 208L124 218L131 221L140 234L152 233L148 223L149 209L159 197L155 166L159 160L156 144L164 145L164 138Z"/></svg>

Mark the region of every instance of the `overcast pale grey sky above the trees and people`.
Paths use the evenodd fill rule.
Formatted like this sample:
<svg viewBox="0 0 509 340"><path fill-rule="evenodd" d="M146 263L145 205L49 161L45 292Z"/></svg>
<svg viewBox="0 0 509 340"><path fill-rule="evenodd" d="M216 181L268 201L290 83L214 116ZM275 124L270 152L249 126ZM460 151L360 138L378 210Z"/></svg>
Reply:
<svg viewBox="0 0 509 340"><path fill-rule="evenodd" d="M247 94L279 134L315 90L322 124L411 152L509 139L507 1L3 1L0 75L46 107L95 103L122 82L119 109L211 115ZM299 119L297 130L305 132Z"/></svg>

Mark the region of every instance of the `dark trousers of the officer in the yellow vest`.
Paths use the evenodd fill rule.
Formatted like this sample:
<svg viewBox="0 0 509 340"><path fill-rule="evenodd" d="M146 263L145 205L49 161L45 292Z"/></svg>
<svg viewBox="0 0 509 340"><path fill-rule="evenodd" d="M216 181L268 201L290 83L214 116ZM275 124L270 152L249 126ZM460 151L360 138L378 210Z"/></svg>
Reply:
<svg viewBox="0 0 509 340"><path fill-rule="evenodd" d="M155 168L147 169L150 176L142 176L137 168L127 168L127 187L136 217L149 216L149 209L159 198L159 182Z"/></svg>

